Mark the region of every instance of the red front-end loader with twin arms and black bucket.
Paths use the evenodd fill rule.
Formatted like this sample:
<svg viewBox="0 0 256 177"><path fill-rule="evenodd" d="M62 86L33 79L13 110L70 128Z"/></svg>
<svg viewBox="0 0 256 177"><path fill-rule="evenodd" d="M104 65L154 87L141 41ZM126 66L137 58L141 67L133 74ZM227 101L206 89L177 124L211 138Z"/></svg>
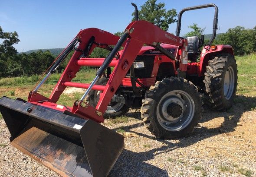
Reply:
<svg viewBox="0 0 256 177"><path fill-rule="evenodd" d="M27 101L0 98L0 111L10 131L11 144L63 176L106 176L124 149L124 138L99 123L104 121L109 102L144 44L175 60L159 43L175 44L185 50L187 40L143 20L131 22L121 38L98 28L81 30L29 93ZM115 47L101 63L92 83L71 82L81 66L97 65L97 60L87 60L95 47L111 45ZM122 54L113 60L122 46ZM71 51L74 54L52 94L49 98L39 94L41 85ZM186 56L182 59L186 60ZM108 66L115 68L107 84L96 85ZM56 104L67 86L87 89L73 107ZM84 101L91 90L102 91L95 107Z"/></svg>

